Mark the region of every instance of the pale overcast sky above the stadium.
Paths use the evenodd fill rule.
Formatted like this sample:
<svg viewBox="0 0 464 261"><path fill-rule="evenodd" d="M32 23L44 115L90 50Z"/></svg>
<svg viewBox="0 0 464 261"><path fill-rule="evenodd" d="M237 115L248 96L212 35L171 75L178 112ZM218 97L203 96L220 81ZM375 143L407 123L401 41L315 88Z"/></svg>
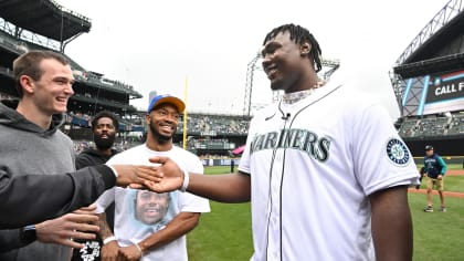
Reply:
<svg viewBox="0 0 464 261"><path fill-rule="evenodd" d="M323 56L340 60L334 77L349 79L399 116L388 72L407 45L447 1L423 0L59 0L92 19L89 33L66 46L85 69L148 93L184 97L188 109L242 114L246 65L265 34L283 23L309 29ZM255 72L253 104L271 102L261 71Z"/></svg>

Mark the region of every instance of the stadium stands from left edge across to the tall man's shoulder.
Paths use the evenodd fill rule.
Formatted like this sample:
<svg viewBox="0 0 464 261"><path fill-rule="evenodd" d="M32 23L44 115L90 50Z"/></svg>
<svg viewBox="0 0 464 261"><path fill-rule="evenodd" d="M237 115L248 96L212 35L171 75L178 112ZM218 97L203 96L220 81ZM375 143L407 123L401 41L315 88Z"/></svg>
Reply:
<svg viewBox="0 0 464 261"><path fill-rule="evenodd" d="M89 32L91 27L88 18L53 0L0 1L0 98L18 97L11 67L15 58L28 50L61 52L70 60L75 77L75 94L68 101L63 126L63 132L74 140L75 150L92 146L91 122L102 109L119 116L116 146L125 149L143 139L146 112L129 105L130 100L141 98L141 94L127 83L84 69L64 53L65 45ZM182 146L186 129L188 149L209 157L228 157L232 149L245 144L250 117L189 113L187 126L181 121L173 139Z"/></svg>

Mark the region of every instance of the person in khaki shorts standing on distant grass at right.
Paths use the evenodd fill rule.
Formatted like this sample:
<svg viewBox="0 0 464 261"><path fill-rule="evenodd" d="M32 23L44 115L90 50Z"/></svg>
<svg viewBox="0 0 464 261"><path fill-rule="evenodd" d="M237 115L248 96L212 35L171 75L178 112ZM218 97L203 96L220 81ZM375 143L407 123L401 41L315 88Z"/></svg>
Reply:
<svg viewBox="0 0 464 261"><path fill-rule="evenodd" d="M446 212L443 195L446 164L440 155L434 153L431 145L425 146L424 168L426 177L426 207L424 211L433 212L432 190L435 188L439 191L441 202L439 210L441 212Z"/></svg>

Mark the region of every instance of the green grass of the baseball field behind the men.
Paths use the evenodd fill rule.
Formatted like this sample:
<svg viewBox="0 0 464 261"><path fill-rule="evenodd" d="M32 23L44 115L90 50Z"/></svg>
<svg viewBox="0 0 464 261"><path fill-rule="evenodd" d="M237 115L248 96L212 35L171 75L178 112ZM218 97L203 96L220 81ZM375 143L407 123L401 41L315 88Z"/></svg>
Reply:
<svg viewBox="0 0 464 261"><path fill-rule="evenodd" d="M228 166L205 168L205 174L229 171ZM445 189L464 192L464 177L447 176ZM433 196L433 200L437 206L439 197ZM425 195L410 194L409 202L414 229L413 261L464 260L464 199L447 197L447 212L431 213L423 211ZM200 225L188 234L189 260L250 260L253 253L250 203L210 203L212 211L202 215Z"/></svg>

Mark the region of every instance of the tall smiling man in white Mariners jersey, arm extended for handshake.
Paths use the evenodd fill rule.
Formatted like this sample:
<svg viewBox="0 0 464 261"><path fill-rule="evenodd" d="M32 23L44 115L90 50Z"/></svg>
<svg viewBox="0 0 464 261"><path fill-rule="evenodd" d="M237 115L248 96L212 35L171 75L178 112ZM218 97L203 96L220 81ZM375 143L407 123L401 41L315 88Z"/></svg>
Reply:
<svg viewBox="0 0 464 261"><path fill-rule="evenodd" d="M284 24L263 43L263 69L283 98L251 122L239 173L187 174L164 164L158 191L186 189L223 202L252 201L253 261L412 259L411 153L386 109L348 85L319 88L320 48Z"/></svg>

